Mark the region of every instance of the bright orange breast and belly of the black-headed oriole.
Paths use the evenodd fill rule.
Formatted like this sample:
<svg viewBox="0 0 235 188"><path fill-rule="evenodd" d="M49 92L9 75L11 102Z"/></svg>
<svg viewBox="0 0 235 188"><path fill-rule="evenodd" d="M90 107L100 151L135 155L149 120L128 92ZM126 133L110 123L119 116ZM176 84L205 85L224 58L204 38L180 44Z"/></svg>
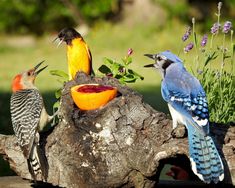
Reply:
<svg viewBox="0 0 235 188"><path fill-rule="evenodd" d="M74 78L78 71L91 73L91 55L86 42L82 38L72 40L67 47L69 77Z"/></svg>

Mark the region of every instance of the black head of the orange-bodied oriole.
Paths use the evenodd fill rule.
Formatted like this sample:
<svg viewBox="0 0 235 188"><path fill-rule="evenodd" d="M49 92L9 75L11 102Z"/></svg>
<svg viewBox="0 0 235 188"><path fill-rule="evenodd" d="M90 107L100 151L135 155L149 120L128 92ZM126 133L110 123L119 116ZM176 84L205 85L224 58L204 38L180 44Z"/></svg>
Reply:
<svg viewBox="0 0 235 188"><path fill-rule="evenodd" d="M74 28L64 28L58 34L58 38L61 41L66 42L67 45L70 45L73 39L81 37L81 34L78 33Z"/></svg>

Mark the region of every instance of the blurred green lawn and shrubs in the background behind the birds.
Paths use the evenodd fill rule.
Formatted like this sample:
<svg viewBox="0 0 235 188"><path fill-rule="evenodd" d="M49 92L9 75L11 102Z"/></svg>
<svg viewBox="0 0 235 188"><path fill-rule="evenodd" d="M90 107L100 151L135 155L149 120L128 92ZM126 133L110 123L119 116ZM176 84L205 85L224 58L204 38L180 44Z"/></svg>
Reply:
<svg viewBox="0 0 235 188"><path fill-rule="evenodd" d="M222 20L235 18L235 0L224 0ZM192 17L201 35L209 34L216 22L215 0L1 0L0 1L0 134L12 134L9 101L13 77L45 60L48 64L36 80L48 111L52 113L54 92L60 87L49 70L67 71L65 45L52 41L64 27L75 27L88 43L93 67L104 57L120 60L128 48L134 53L132 68L145 79L129 84L156 110L168 113L161 98L161 77L144 69L145 53L171 50L193 67L191 54L182 53L181 37ZM215 65L217 66L217 65ZM96 74L99 74L96 72ZM0 175L9 175L0 159Z"/></svg>

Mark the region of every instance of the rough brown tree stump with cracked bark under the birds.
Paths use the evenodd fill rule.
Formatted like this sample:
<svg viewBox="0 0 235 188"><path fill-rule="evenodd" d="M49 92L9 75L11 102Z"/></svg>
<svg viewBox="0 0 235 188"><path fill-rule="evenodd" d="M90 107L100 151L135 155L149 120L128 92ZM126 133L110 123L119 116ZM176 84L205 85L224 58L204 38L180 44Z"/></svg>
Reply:
<svg viewBox="0 0 235 188"><path fill-rule="evenodd" d="M84 83L115 86L119 95L98 110L82 112L73 103L70 88ZM165 163L191 172L185 128L172 131L164 113L113 78L79 73L65 84L60 115L59 124L41 134L48 183L70 188L153 187ZM235 185L235 126L212 124L211 135L225 166L224 183ZM19 176L31 179L15 136L0 135L0 154Z"/></svg>

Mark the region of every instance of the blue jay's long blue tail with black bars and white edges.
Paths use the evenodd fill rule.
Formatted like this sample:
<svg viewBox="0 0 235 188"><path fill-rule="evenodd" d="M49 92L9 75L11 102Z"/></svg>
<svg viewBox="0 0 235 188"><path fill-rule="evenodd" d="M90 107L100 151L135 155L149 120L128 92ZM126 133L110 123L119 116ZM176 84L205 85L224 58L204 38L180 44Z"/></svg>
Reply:
<svg viewBox="0 0 235 188"><path fill-rule="evenodd" d="M212 138L188 126L189 154L193 172L205 183L224 179L224 167Z"/></svg>

